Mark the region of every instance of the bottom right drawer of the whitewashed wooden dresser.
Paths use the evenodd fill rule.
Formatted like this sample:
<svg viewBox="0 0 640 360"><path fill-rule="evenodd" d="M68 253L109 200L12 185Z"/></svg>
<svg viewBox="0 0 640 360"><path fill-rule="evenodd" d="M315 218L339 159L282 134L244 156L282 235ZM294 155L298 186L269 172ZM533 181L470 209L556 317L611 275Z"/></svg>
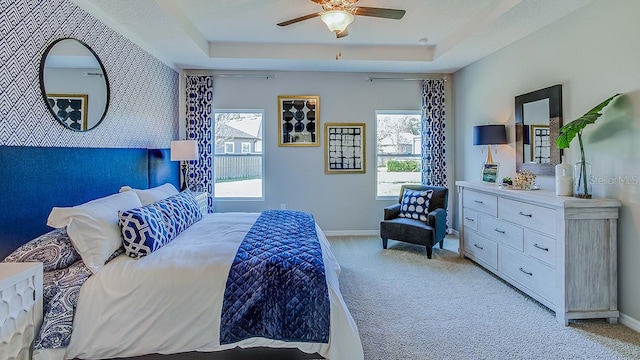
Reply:
<svg viewBox="0 0 640 360"><path fill-rule="evenodd" d="M555 270L551 267L503 246L500 248L500 271L551 303L557 303Z"/></svg>

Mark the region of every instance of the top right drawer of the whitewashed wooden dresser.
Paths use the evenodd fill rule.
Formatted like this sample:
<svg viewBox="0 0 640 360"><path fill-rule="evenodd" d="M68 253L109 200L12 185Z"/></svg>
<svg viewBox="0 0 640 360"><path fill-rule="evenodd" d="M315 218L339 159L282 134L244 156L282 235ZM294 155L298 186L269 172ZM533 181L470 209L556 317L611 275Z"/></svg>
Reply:
<svg viewBox="0 0 640 360"><path fill-rule="evenodd" d="M553 209L500 198L498 216L551 236L556 235L556 212Z"/></svg>

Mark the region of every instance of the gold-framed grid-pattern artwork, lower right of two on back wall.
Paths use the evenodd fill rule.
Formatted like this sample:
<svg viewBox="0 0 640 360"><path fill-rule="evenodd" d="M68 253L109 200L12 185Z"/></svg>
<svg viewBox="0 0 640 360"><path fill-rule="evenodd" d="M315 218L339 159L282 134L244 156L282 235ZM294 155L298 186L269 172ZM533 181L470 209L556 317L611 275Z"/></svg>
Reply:
<svg viewBox="0 0 640 360"><path fill-rule="evenodd" d="M366 171L365 124L324 124L324 172L355 174Z"/></svg>

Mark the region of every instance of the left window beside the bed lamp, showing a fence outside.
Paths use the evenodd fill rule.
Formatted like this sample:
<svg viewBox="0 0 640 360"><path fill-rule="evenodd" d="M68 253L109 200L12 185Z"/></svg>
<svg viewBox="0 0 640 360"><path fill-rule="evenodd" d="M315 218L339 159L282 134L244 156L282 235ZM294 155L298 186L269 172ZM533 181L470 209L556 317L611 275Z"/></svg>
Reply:
<svg viewBox="0 0 640 360"><path fill-rule="evenodd" d="M263 110L214 111L217 200L264 199L263 118Z"/></svg>

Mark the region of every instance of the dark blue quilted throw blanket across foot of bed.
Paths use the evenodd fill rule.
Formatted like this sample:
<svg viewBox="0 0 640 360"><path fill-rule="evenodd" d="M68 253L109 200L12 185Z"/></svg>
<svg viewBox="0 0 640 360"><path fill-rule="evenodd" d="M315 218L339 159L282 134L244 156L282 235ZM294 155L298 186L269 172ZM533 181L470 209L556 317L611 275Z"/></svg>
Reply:
<svg viewBox="0 0 640 360"><path fill-rule="evenodd" d="M313 215L262 212L238 248L226 286L221 344L252 337L329 342L329 292Z"/></svg>

